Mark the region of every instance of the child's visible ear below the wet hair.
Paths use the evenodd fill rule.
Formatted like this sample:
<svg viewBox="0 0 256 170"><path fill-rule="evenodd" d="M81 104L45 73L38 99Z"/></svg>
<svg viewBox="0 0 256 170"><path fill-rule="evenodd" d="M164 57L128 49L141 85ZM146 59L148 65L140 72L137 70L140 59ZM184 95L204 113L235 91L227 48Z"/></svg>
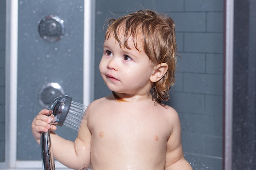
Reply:
<svg viewBox="0 0 256 170"><path fill-rule="evenodd" d="M166 63L158 64L154 67L154 73L150 76L150 81L155 83L165 75L168 70Z"/></svg>

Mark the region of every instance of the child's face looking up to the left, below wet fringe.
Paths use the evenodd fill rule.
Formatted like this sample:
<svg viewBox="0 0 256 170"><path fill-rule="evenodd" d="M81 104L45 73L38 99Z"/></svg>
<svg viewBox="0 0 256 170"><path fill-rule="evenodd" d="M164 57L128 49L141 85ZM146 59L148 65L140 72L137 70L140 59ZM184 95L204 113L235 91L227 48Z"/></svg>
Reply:
<svg viewBox="0 0 256 170"><path fill-rule="evenodd" d="M123 41L123 39L121 39ZM150 76L153 74L153 64L143 50L142 43L137 49L130 38L128 45L132 49L119 46L114 36L110 35L103 44L103 56L99 70L104 82L111 91L131 95L148 95L152 86Z"/></svg>

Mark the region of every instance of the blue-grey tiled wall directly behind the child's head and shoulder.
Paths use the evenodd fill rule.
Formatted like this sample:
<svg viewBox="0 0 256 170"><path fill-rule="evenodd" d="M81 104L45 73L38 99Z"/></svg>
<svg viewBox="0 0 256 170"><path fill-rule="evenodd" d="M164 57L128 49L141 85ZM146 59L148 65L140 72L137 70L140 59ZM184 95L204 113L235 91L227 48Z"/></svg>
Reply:
<svg viewBox="0 0 256 170"><path fill-rule="evenodd" d="M180 115L182 144L194 169L222 170L222 0L97 0L95 99L108 95L98 65L102 55L103 24L110 12L123 15L148 8L164 12L176 23L177 82L171 89L173 106Z"/></svg>

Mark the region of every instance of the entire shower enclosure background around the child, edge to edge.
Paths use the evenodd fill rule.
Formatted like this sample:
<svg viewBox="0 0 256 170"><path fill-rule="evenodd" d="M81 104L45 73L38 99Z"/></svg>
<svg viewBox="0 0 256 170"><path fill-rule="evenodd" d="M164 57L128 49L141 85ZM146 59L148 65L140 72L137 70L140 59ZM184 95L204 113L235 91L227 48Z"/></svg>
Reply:
<svg viewBox="0 0 256 170"><path fill-rule="evenodd" d="M104 22L142 7L176 24L181 58L166 104L180 115L185 158L194 170L256 168L254 0L2 0L0 169L42 169L30 126L51 98L88 105L110 93L98 70Z"/></svg>

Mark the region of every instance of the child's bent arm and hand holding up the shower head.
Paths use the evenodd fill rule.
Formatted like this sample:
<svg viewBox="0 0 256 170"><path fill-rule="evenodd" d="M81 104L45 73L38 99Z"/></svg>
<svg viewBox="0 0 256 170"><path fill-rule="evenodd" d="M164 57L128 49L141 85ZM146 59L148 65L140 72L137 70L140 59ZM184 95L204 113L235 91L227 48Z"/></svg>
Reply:
<svg viewBox="0 0 256 170"><path fill-rule="evenodd" d="M46 116L48 114L50 114L49 110L41 110L32 122L32 134L38 144L40 144L42 132L56 130L56 126L49 126L51 120ZM91 134L86 118L81 122L81 127L74 142L51 132L51 146L54 157L63 165L77 170L90 166Z"/></svg>

